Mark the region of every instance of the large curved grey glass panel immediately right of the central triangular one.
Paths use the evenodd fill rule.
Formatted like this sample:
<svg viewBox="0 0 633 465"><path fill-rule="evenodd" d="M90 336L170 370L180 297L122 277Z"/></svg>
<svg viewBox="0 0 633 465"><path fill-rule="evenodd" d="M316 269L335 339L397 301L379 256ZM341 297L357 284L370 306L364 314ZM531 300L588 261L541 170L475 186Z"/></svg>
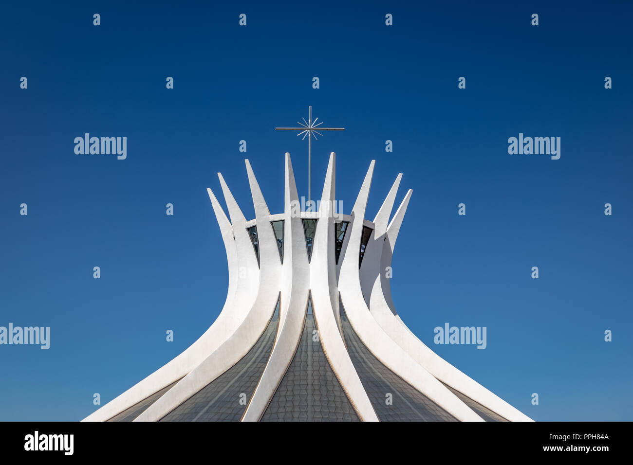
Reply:
<svg viewBox="0 0 633 465"><path fill-rule="evenodd" d="M342 303L340 307L349 357L380 421L457 421L374 357L354 332Z"/></svg>

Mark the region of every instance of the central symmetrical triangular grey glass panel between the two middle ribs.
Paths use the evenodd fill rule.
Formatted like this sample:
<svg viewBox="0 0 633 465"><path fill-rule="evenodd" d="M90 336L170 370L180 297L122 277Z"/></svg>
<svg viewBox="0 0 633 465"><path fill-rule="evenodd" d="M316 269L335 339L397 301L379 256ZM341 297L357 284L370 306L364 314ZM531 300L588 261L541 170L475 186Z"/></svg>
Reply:
<svg viewBox="0 0 633 465"><path fill-rule="evenodd" d="M261 421L359 421L314 330L310 303L299 347Z"/></svg>

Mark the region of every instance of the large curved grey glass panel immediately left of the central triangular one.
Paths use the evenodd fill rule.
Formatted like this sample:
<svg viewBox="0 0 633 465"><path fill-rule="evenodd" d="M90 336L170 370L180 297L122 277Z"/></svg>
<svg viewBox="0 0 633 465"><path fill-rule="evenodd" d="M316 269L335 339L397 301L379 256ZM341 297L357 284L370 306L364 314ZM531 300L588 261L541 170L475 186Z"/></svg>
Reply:
<svg viewBox="0 0 633 465"><path fill-rule="evenodd" d="M268 327L248 354L160 421L239 421L268 362L277 333L278 310L279 301Z"/></svg>

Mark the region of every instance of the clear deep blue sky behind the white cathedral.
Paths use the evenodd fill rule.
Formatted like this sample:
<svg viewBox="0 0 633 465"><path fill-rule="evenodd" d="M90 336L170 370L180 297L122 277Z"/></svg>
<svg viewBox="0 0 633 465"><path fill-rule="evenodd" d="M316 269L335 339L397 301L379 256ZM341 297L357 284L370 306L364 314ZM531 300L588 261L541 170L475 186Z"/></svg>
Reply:
<svg viewBox="0 0 633 465"><path fill-rule="evenodd" d="M306 142L273 128L308 105L346 127L313 143L314 192L330 151L346 213L372 159L368 217L398 173L397 202L413 189L392 294L418 337L536 420L633 419L633 7L312 5L3 5L0 326L51 326L51 348L0 346L0 420L82 419L208 328L227 269L206 188L221 171L253 218L249 158L280 212L289 151L306 195ZM127 159L75 154L85 132ZM561 158L508 154L520 132ZM434 345L446 322L486 350Z"/></svg>

